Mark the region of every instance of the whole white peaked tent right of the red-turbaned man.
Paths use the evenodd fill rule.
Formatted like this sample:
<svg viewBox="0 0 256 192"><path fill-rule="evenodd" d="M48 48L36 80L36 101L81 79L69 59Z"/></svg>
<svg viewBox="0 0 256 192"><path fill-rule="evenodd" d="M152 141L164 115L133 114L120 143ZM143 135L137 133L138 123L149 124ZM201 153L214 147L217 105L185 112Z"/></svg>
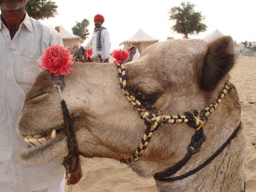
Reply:
<svg viewBox="0 0 256 192"><path fill-rule="evenodd" d="M128 40L123 41L121 44L124 45L124 49L129 47L136 46L141 53L146 47L158 42L157 39L152 38L146 34L142 29L139 29L137 33ZM120 45L121 45L120 44Z"/></svg>

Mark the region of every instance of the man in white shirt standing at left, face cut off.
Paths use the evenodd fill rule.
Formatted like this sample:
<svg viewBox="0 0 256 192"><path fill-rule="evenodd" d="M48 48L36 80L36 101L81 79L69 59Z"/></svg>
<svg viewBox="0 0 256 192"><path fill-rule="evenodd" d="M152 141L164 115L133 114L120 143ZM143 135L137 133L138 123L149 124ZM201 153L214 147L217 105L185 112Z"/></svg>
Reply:
<svg viewBox="0 0 256 192"><path fill-rule="evenodd" d="M40 73L44 50L62 45L55 29L28 17L26 2L0 0L0 192L63 192L61 161L32 166L19 159L19 150L26 146L17 134L24 94Z"/></svg>

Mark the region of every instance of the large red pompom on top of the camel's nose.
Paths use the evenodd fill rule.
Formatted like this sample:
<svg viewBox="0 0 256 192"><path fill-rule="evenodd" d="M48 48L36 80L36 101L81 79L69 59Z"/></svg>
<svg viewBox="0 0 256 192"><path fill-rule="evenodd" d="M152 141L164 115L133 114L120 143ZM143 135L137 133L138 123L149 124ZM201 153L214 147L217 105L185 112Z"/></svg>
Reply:
<svg viewBox="0 0 256 192"><path fill-rule="evenodd" d="M48 47L42 58L41 69L48 70L55 77L59 75L68 75L73 65L70 51L67 47L61 45L52 45Z"/></svg>

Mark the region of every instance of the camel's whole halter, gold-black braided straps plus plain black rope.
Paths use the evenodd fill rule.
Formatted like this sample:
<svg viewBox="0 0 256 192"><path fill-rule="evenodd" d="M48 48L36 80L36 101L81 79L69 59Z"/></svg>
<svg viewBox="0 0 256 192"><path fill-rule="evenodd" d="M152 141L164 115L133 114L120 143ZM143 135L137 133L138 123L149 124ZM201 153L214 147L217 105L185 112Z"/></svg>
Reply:
<svg viewBox="0 0 256 192"><path fill-rule="evenodd" d="M213 159L220 154L223 149L225 149L226 146L230 144L232 139L234 139L237 136L238 131L241 129L241 122L238 125L237 129L233 132L233 134L230 136L230 138L211 156L207 159L206 162L204 162L202 165L197 167L194 170L189 171L186 174L183 174L181 176L177 177L170 177L173 174L175 174L177 171L179 171L191 158L193 154L196 154L201 149L202 144L205 142L206 137L204 135L203 126L208 121L208 116L218 108L221 101L225 98L226 94L230 91L230 82L227 82L225 86L223 87L218 99L216 102L210 104L208 107L203 109L201 112L198 110L193 110L190 112L186 112L184 115L165 115L165 114L159 114L156 110L147 110L139 100L137 100L132 94L129 93L126 86L126 74L125 74L125 67L124 63L119 62L116 64L117 71L118 71L118 77L120 81L120 86L122 89L122 92L126 99L131 103L131 105L139 112L139 115L142 119L145 120L145 123L147 125L145 134L143 138L141 139L141 143L139 144L137 150L133 153L133 155L128 159L121 159L122 163L126 164L132 164L143 155L145 152L147 146L149 145L150 139L153 136L154 131L159 129L163 123L186 123L189 126L193 127L196 130L195 135L191 138L191 142L187 147L187 154L185 157L178 162L176 165L174 165L171 168L168 168L167 170L163 172L156 173L154 175L154 178L159 181L176 181L183 179L185 177L188 177L197 171L204 168L206 165L211 163Z"/></svg>

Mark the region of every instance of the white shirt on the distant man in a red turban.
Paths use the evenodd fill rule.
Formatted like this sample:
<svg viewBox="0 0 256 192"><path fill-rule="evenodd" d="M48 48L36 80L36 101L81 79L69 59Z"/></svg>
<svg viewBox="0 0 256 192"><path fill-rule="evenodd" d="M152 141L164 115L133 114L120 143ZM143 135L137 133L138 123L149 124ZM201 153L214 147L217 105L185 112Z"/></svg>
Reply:
<svg viewBox="0 0 256 192"><path fill-rule="evenodd" d="M97 50L97 34L99 33L98 31L92 32L92 37L90 41L84 46L84 49L88 49L90 46L92 46L92 57L100 54L101 59L104 60L110 57L110 40L109 40L109 33L106 29L102 30L101 34L101 45L102 45L102 50L98 51Z"/></svg>

